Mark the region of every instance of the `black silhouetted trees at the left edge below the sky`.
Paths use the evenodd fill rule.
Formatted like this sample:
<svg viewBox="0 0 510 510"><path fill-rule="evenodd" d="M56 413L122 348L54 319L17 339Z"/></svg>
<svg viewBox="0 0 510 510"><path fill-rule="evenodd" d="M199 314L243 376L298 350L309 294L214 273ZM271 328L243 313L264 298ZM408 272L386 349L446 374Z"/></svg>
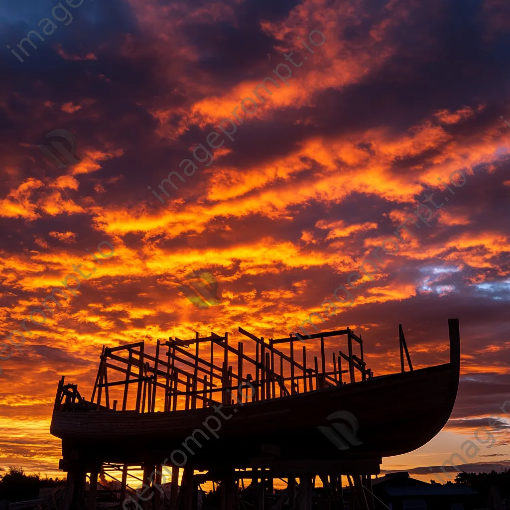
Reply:
<svg viewBox="0 0 510 510"><path fill-rule="evenodd" d="M22 468L9 466L5 475L0 475L0 499L11 502L36 499L39 489L57 487L65 478L41 478L40 475L25 475Z"/></svg>

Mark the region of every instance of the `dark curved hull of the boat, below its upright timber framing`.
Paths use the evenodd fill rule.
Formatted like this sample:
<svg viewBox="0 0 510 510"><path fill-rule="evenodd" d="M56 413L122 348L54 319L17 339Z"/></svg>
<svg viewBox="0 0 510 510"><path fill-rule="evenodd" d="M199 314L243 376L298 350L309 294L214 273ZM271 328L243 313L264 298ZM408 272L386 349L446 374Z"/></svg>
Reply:
<svg viewBox="0 0 510 510"><path fill-rule="evenodd" d="M64 458L91 462L168 457L211 469L227 459L236 467L275 457L363 461L410 452L436 436L451 414L458 375L458 364L448 363L216 410L55 412L50 432L62 439ZM351 426L358 440L347 435L344 449L318 428L333 430L327 417L337 412L358 422Z"/></svg>

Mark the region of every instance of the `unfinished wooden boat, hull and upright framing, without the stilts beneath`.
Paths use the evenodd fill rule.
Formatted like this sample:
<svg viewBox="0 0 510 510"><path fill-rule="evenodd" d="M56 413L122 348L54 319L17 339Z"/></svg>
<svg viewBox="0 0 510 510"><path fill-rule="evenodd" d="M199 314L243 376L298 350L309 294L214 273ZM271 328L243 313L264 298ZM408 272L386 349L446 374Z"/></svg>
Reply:
<svg viewBox="0 0 510 510"><path fill-rule="evenodd" d="M208 470L209 479L250 468L275 476L379 473L381 457L419 448L451 414L460 370L458 320L449 319L448 327L450 362L413 370L399 326L401 371L382 376L366 367L363 340L349 328L305 338L309 349L320 342L319 358L309 364L307 347L296 344L300 338L264 341L242 328L255 344L254 357L242 342L234 348L228 334L214 333L158 340L154 356L143 342L104 347L90 400L64 377L59 382L50 432L62 439L60 467L97 475L105 463L164 463L186 466L191 477L193 470ZM327 362L325 343L330 347L340 336L347 350L330 352ZM112 371L121 378L109 380Z"/></svg>

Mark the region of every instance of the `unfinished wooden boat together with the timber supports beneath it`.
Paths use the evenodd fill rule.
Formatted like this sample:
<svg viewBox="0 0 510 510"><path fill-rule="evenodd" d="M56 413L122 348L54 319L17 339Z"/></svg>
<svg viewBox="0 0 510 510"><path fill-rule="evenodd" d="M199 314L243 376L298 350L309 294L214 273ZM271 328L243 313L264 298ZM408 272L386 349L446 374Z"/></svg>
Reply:
<svg viewBox="0 0 510 510"><path fill-rule="evenodd" d="M90 400L64 376L58 384L50 432L62 439L59 468L68 473L60 510L95 510L108 492L98 490L99 474L117 482L110 501L124 510L311 510L317 501L326 506L314 508L374 510L371 475L381 458L419 448L451 414L458 319L448 328L450 362L413 369L399 325L400 372L381 376L350 328L310 335L301 348L299 337L265 341L241 327L254 349L234 347L228 333L158 340L154 355L144 342L104 346ZM319 356L307 358L307 346ZM144 491L135 494L128 476ZM278 478L287 483L279 492ZM214 503L198 497L205 482Z"/></svg>

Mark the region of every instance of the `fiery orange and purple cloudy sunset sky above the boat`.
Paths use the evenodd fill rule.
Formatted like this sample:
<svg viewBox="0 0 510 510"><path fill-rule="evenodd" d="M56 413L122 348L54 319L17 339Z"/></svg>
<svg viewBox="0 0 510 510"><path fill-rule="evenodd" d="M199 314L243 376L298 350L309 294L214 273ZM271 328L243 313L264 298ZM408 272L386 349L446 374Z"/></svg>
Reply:
<svg viewBox="0 0 510 510"><path fill-rule="evenodd" d="M196 330L237 342L238 326L284 337L310 313L325 316L321 303L431 193L444 206L425 202L429 226L409 223L414 237L404 233L394 254L379 250L377 271L366 266L372 279L360 288L351 277L352 306L314 322L362 333L379 375L399 370L399 323L420 368L449 360L447 319L458 317L450 421L382 467L424 475L474 440L510 399L510 127L500 118L510 121L508 3L63 2L71 22L61 8L63 21L52 16L55 5L0 5L2 341L24 331L73 264L97 270L43 325L28 319L32 336L24 331L21 350L0 361L0 473L16 465L63 475L49 434L57 382L66 375L89 398L101 346L153 346ZM57 28L38 27L43 18ZM44 41L32 34L28 57L17 44L31 30ZM314 30L320 46L309 41ZM299 67L286 62L290 52ZM282 63L289 86L273 73ZM221 133L267 76L279 88L266 82L273 94L262 90L256 111L245 101L236 132ZM79 163L58 168L35 147L56 129L75 136ZM204 163L192 151L213 131L224 143L206 166L203 150ZM186 158L192 175L179 168ZM167 197L158 185L175 170L185 182L166 183ZM457 170L464 185L452 194L438 178L449 184ZM91 253L101 259L103 241L115 251L99 265ZM220 304L198 308L177 288L196 270L216 277ZM473 470L510 466L510 420L502 424L494 445L478 444Z"/></svg>

